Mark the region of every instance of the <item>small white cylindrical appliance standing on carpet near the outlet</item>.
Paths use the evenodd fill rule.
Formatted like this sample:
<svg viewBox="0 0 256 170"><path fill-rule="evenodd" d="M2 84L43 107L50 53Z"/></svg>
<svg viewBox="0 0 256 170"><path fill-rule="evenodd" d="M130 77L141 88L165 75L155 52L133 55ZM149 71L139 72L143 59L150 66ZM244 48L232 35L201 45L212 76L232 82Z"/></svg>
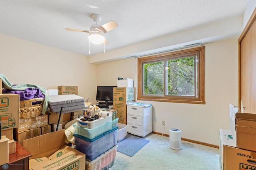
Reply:
<svg viewBox="0 0 256 170"><path fill-rule="evenodd" d="M177 128L170 128L170 148L181 149L181 131Z"/></svg>

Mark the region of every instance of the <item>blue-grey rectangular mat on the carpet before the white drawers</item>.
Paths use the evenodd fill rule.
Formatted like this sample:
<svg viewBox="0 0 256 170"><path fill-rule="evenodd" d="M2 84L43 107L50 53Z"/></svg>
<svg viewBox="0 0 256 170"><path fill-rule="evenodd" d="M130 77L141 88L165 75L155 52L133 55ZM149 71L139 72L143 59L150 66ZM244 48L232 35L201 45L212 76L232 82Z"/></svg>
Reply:
<svg viewBox="0 0 256 170"><path fill-rule="evenodd" d="M134 156L143 146L145 146L149 140L140 138L137 136L132 136L127 134L126 138L118 142L118 147L116 151L126 154L127 156Z"/></svg>

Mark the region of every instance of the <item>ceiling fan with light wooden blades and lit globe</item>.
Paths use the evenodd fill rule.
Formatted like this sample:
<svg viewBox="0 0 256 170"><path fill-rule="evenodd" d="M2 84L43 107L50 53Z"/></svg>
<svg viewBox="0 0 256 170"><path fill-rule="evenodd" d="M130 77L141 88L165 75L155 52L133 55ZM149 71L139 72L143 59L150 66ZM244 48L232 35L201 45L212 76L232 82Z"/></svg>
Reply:
<svg viewBox="0 0 256 170"><path fill-rule="evenodd" d="M65 30L68 31L77 31L77 32L87 32L89 33L88 39L90 42L95 43L95 44L107 44L108 40L105 38L105 33L113 30L114 28L118 27L118 24L112 20L110 22L107 22L106 24L103 24L102 26L98 25L98 22L101 20L101 16L98 14L92 14L91 15L92 20L96 22L96 24L93 24L90 27L90 31L87 30L77 30L77 29L72 29L72 28L65 28Z"/></svg>

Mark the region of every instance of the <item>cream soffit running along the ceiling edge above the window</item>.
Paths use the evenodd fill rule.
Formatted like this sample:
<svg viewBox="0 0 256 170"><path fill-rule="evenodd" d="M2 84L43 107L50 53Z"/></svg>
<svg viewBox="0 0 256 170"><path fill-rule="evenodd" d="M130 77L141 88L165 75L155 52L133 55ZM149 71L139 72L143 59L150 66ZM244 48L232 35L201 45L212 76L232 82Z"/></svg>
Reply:
<svg viewBox="0 0 256 170"><path fill-rule="evenodd" d="M168 51L194 43L208 43L236 38L242 32L242 21L242 16L236 16L112 51L106 50L106 53L90 56L89 62L94 64L107 63L131 56Z"/></svg>

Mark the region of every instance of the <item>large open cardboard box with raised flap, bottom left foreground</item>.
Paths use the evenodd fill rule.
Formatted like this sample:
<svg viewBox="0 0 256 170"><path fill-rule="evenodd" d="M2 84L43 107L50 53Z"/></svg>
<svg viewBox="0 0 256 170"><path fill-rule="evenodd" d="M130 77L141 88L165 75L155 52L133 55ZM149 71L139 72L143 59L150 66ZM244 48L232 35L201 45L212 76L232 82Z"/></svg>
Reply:
<svg viewBox="0 0 256 170"><path fill-rule="evenodd" d="M30 138L23 141L23 146L32 154L33 158L50 157L54 152L65 146L65 130L58 130ZM31 167L30 170L51 169L85 170L85 154L76 149L70 148L70 152L64 153L53 160Z"/></svg>

